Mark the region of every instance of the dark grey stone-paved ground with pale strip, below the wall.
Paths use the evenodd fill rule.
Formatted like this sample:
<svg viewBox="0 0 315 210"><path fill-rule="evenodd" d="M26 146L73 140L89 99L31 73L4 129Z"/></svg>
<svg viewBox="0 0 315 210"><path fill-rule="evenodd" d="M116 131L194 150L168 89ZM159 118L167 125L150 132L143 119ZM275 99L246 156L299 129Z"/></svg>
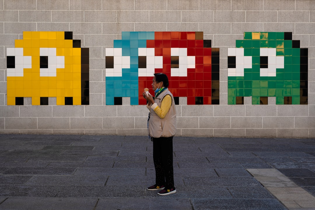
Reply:
<svg viewBox="0 0 315 210"><path fill-rule="evenodd" d="M0 134L0 210L314 210L315 139L174 137L159 196L145 136Z"/></svg>

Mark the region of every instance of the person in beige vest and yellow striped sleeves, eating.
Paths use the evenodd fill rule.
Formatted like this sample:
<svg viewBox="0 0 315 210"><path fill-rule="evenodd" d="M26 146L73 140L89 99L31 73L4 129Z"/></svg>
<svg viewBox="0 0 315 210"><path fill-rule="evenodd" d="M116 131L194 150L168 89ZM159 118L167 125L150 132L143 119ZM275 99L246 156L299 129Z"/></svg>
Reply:
<svg viewBox="0 0 315 210"><path fill-rule="evenodd" d="M176 133L176 108L174 97L168 89L169 80L163 73L156 73L152 79L151 94L143 92L150 110L148 134L153 141L153 162L155 167L155 184L147 190L160 190L158 195L176 192L173 173L173 136Z"/></svg>

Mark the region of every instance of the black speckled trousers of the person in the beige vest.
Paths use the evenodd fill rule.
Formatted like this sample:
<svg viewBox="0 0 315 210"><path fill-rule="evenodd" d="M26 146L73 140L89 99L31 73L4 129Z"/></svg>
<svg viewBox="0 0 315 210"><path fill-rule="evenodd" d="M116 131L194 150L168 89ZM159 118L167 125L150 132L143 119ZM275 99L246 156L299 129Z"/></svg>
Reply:
<svg viewBox="0 0 315 210"><path fill-rule="evenodd" d="M156 184L174 188L173 137L153 138L153 162Z"/></svg>

